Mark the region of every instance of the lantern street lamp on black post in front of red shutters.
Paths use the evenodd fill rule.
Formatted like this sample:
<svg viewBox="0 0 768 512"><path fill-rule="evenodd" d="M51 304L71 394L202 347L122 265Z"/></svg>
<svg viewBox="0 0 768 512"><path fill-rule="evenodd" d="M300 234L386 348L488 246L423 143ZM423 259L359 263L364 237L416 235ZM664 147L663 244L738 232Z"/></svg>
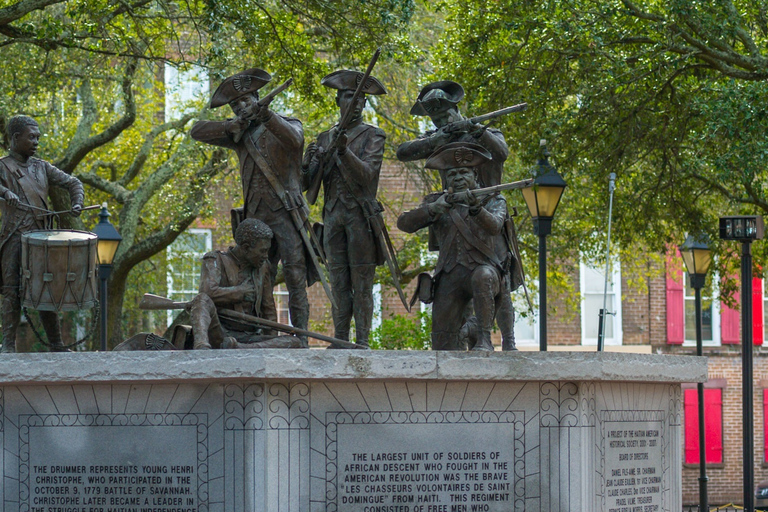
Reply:
<svg viewBox="0 0 768 512"><path fill-rule="evenodd" d="M712 254L709 246L702 241L702 237L692 235L686 237L680 246L683 262L688 271L691 287L696 297L696 355L703 356L701 336L701 289L707 279L707 270L712 263ZM697 384L699 393L699 510L709 510L707 499L707 461L704 440L704 383Z"/></svg>

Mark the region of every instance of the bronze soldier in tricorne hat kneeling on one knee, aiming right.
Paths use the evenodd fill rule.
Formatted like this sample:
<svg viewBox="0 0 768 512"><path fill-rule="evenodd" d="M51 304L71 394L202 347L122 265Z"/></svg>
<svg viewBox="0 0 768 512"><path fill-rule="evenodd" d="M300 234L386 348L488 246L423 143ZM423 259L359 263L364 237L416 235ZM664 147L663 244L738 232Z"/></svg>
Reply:
<svg viewBox="0 0 768 512"><path fill-rule="evenodd" d="M466 348L459 341L459 329L470 301L480 326L480 339L473 350L493 350L496 304L500 295L508 293L503 279L509 262L499 256L506 253L496 250L496 245L505 243L507 203L500 195L481 202L471 192L479 188L477 168L490 160L491 154L477 144L443 146L429 157L426 167L441 172L451 193L428 195L421 206L403 213L397 221L406 233L429 227L430 248L440 251L432 281L433 350ZM454 194L459 193L462 202L454 202Z"/></svg>

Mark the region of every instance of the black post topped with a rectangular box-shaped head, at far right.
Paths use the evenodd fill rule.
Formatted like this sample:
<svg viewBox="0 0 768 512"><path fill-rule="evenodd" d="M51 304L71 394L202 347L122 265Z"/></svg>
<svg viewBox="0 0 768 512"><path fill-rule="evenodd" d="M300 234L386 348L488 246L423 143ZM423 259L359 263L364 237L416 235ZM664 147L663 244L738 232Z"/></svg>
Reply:
<svg viewBox="0 0 768 512"><path fill-rule="evenodd" d="M759 215L720 217L720 238L741 242L741 404L744 416L742 446L744 510L755 510L755 408L752 380L752 242L762 240L763 218Z"/></svg>

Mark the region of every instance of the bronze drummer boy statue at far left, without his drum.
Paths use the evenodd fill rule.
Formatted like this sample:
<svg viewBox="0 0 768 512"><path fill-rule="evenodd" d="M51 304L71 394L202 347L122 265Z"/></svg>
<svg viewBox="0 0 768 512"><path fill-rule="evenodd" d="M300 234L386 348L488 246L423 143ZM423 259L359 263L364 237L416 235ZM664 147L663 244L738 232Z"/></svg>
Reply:
<svg viewBox="0 0 768 512"><path fill-rule="evenodd" d="M0 158L0 197L2 197L2 228L0 229L0 291L3 300L3 352L16 352L16 331L21 319L20 274L21 235L35 229L50 229L50 217L41 216L48 210L48 188L57 186L69 191L72 213L80 215L83 208L83 184L45 160L34 158L40 140L37 121L29 116L14 116L6 126L10 147L8 156ZM65 352L61 326L55 311L40 311L40 320L54 352Z"/></svg>

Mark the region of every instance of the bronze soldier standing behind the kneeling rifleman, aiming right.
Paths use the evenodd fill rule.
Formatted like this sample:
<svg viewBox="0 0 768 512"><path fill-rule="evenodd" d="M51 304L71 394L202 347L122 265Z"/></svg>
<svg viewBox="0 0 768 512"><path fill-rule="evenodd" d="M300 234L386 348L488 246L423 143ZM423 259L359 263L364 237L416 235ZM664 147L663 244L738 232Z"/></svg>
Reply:
<svg viewBox="0 0 768 512"><path fill-rule="evenodd" d="M478 185L481 187L498 185L501 183L504 172L504 162L509 156L504 134L495 128L486 128L464 119L457 106L462 98L464 98L464 88L451 80L432 82L424 86L416 103L411 107L411 115L429 116L437 129L428 131L415 140L400 144L397 148L397 158L402 162L423 160L449 143L479 144L491 154L492 158L476 167ZM443 182L443 188L446 188L445 182ZM511 219L506 219L505 222L508 225L512 223ZM511 225L511 228L510 231L514 231L514 225ZM503 256L502 251L508 250L508 246L500 245L497 248L499 257ZM519 262L514 262L513 265L519 265ZM520 278L516 277L521 274L515 268L511 270L511 274L504 278L504 286L509 293L500 296L497 304L500 310L497 321L505 350L515 349L515 317L510 293L521 284ZM506 321L510 318L511 323L507 325Z"/></svg>

